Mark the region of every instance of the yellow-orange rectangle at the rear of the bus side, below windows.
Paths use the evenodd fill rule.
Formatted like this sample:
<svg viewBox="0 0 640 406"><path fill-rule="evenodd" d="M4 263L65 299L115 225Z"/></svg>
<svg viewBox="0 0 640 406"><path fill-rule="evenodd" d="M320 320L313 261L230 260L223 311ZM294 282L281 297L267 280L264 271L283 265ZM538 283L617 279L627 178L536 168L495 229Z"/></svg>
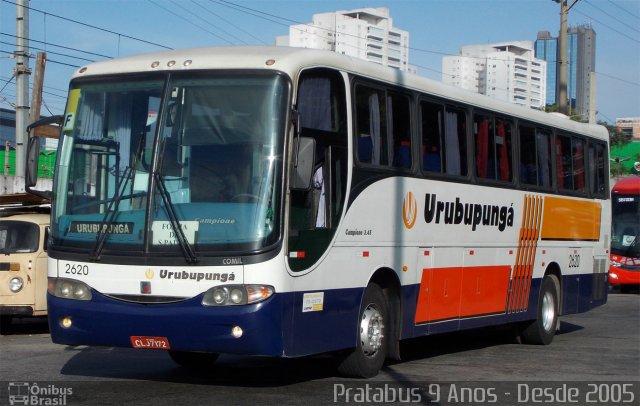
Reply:
<svg viewBox="0 0 640 406"><path fill-rule="evenodd" d="M546 196L542 239L598 241L601 211L598 202Z"/></svg>

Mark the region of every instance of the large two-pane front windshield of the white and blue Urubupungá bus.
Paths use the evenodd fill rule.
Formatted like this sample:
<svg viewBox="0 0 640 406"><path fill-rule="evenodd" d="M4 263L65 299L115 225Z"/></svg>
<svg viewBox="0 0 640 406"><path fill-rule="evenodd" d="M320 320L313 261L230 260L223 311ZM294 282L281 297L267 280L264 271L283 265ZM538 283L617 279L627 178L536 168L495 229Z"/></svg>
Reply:
<svg viewBox="0 0 640 406"><path fill-rule="evenodd" d="M72 83L52 248L218 255L278 241L287 90L276 74Z"/></svg>

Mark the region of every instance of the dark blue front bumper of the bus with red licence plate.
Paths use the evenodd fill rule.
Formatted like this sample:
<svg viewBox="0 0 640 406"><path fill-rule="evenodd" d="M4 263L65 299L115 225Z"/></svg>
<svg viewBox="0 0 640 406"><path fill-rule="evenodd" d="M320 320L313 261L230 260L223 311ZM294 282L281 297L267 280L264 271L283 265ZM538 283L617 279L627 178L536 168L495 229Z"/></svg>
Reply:
<svg viewBox="0 0 640 406"><path fill-rule="evenodd" d="M47 302L51 339L57 344L282 356L280 323L286 297L276 294L257 304L214 307L203 306L202 295L142 304L93 292L88 301L47 294Z"/></svg>

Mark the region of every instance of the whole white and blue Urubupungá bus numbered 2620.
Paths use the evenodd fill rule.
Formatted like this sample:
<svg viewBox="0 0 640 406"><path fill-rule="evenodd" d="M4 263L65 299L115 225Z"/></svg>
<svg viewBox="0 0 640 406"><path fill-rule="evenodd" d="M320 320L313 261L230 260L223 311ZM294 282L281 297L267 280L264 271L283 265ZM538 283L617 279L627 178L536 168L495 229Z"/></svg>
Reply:
<svg viewBox="0 0 640 406"><path fill-rule="evenodd" d="M607 299L600 126L336 53L223 47L83 67L62 127L56 343L198 366L334 353L370 377L402 339L510 324L548 344Z"/></svg>

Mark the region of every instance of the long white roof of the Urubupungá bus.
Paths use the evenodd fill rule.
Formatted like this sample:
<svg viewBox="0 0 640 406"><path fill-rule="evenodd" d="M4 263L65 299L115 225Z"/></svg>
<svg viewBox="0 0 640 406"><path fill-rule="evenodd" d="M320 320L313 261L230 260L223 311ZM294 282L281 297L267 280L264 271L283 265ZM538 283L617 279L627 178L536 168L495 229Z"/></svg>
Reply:
<svg viewBox="0 0 640 406"><path fill-rule="evenodd" d="M269 69L282 71L295 79L300 71L313 67L335 68L429 93L452 102L464 103L606 141L609 139L608 131L600 125L578 123L561 114L545 113L496 100L458 87L445 85L433 79L332 51L307 48L226 46L163 51L95 62L78 69L72 79L95 75L162 71L184 72L207 69Z"/></svg>

